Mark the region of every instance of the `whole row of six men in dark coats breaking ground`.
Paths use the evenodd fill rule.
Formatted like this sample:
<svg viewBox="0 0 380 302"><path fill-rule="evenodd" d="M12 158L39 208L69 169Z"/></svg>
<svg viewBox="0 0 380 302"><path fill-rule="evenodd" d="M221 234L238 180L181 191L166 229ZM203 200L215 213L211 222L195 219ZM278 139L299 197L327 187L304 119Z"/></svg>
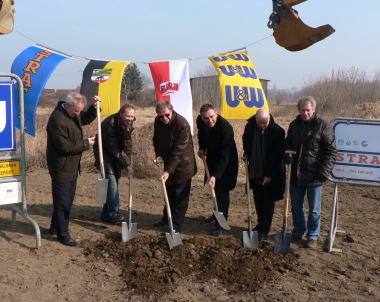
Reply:
<svg viewBox="0 0 380 302"><path fill-rule="evenodd" d="M89 146L94 147L95 163L99 168L97 137L83 139L82 125L96 117L95 106L101 99L93 98L93 105L83 111L85 97L71 93L65 102L59 102L48 125L47 161L52 178L53 215L50 232L68 246L78 245L68 229L70 209L73 204L76 181L80 173L80 158ZM254 195L257 225L253 228L259 240L266 240L271 229L275 202L283 199L285 190L285 164L291 165L290 196L293 214L293 238L302 240L307 231L309 248L317 246L321 220L322 185L328 179L335 160L335 137L331 126L316 114L316 102L303 97L297 102L299 115L290 123L288 133L275 123L266 109L259 109L248 119L243 134L243 158L248 163L249 182ZM104 167L109 180L107 201L101 220L117 224L124 220L119 211L118 185L121 172L126 169L133 175L123 153L132 153L135 108L124 105L119 112L107 117L101 124ZM165 181L175 232L181 232L189 205L191 180L197 173L193 138L188 121L178 114L169 101L156 106L153 147L156 164L163 166L161 178ZM226 220L230 205L230 191L236 186L238 152L231 124L218 115L211 104L200 108L196 120L199 142L198 156L205 159L210 177L204 183L213 187L219 212ZM284 155L286 150L294 156ZM249 192L248 192L249 193ZM306 222L304 198L307 195L309 215ZM223 233L214 215L204 219L214 222L212 234ZM155 226L168 224L167 209Z"/></svg>

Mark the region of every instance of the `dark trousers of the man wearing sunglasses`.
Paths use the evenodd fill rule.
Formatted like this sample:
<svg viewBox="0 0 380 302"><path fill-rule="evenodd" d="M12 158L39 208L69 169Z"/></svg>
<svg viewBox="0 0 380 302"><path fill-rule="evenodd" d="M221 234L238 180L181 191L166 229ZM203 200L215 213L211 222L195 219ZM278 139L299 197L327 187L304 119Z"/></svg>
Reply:
<svg viewBox="0 0 380 302"><path fill-rule="evenodd" d="M170 212L172 215L173 228L176 232L182 231L187 208L189 206L191 178L175 185L165 183L168 193ZM168 220L166 205L163 210L164 219Z"/></svg>

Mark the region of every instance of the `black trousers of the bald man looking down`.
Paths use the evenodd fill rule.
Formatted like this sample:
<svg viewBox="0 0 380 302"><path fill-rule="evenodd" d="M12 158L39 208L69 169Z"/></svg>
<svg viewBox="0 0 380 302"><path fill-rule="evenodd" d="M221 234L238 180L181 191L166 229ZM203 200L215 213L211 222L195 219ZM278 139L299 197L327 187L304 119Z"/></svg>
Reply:
<svg viewBox="0 0 380 302"><path fill-rule="evenodd" d="M252 182L251 182L252 184ZM257 231L268 234L272 225L275 201L271 201L268 196L270 188L257 184L252 184L253 199L257 213Z"/></svg>

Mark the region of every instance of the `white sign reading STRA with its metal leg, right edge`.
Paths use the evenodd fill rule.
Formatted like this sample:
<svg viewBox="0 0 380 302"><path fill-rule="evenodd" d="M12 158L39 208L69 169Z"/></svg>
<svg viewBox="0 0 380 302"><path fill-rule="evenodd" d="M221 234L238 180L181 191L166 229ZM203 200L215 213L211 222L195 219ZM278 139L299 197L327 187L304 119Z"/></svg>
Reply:
<svg viewBox="0 0 380 302"><path fill-rule="evenodd" d="M331 120L337 147L337 160L331 171L335 183L328 252L342 252L333 248L338 230L338 185L380 187L380 120L337 117Z"/></svg>

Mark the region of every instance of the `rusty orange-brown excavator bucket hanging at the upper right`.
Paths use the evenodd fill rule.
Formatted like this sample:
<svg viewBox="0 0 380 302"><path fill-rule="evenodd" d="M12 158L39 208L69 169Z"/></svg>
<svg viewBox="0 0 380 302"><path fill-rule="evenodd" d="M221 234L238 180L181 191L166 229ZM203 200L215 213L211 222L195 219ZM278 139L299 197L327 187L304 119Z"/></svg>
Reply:
<svg viewBox="0 0 380 302"><path fill-rule="evenodd" d="M290 1L290 0L289 0ZM298 16L298 12L283 4L278 11L278 22L273 28L276 43L289 51L300 51L335 32L329 24L312 28Z"/></svg>

